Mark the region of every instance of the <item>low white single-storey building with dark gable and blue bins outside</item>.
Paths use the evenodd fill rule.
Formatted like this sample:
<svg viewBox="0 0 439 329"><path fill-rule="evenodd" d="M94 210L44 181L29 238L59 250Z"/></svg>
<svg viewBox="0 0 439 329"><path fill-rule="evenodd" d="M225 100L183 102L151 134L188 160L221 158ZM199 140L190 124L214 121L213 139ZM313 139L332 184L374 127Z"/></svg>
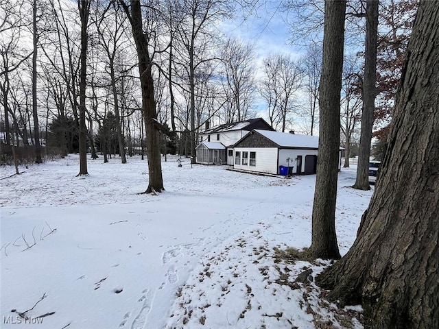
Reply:
<svg viewBox="0 0 439 329"><path fill-rule="evenodd" d="M259 173L302 174L316 173L318 137L267 130L252 130L235 145L234 169ZM341 169L342 150L339 150L338 169ZM282 168L281 168L282 166Z"/></svg>

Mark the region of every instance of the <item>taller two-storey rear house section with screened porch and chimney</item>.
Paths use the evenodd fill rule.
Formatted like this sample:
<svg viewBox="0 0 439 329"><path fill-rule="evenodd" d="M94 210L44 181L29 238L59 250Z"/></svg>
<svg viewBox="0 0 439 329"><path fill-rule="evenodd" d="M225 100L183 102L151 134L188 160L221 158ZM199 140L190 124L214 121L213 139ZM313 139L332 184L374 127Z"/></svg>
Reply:
<svg viewBox="0 0 439 329"><path fill-rule="evenodd" d="M209 127L209 121L206 121L206 130L200 133L201 143L195 147L197 163L233 166L233 145L254 129L274 132L274 129L261 118L225 123L215 127Z"/></svg>

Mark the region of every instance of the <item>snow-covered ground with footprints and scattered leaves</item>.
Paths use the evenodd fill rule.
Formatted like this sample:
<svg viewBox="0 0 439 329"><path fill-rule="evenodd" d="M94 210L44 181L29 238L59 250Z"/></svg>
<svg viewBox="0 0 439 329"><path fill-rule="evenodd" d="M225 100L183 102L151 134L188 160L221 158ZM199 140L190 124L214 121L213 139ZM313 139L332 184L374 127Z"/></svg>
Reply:
<svg viewBox="0 0 439 329"><path fill-rule="evenodd" d="M0 168L1 328L362 328L287 258L311 243L316 176L265 177L163 161L166 191L147 162L77 155ZM372 191L339 174L337 239L345 254ZM31 326L31 324L42 324ZM332 326L332 327L331 327Z"/></svg>

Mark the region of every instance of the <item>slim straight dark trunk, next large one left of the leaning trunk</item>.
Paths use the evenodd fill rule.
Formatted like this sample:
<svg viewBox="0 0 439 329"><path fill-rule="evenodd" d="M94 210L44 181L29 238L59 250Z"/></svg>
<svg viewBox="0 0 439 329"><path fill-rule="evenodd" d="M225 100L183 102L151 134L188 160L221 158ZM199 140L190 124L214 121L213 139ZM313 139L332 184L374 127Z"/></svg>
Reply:
<svg viewBox="0 0 439 329"><path fill-rule="evenodd" d="M79 134L80 134L80 173L78 175L88 175L87 171L87 126L86 119L86 77L87 77L87 25L90 0L78 0L78 8L81 17L81 53L80 53L80 106L79 106Z"/></svg>

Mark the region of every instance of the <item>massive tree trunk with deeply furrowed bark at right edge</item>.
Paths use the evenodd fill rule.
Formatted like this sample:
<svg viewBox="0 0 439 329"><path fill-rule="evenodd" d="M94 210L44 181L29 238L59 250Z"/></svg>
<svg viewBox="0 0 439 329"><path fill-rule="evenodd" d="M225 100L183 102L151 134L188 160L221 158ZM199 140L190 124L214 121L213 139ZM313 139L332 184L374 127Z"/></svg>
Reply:
<svg viewBox="0 0 439 329"><path fill-rule="evenodd" d="M381 171L357 239L318 277L372 328L439 328L439 6L422 1Z"/></svg>

